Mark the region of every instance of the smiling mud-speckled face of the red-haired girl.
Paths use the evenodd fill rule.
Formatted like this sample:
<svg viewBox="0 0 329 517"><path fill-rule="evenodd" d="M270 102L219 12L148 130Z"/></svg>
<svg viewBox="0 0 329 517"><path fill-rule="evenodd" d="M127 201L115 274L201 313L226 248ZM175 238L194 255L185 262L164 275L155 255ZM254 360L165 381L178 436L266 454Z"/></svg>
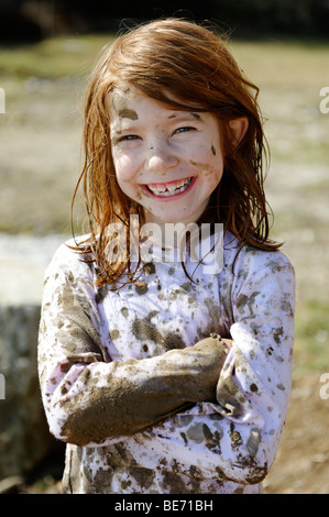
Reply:
<svg viewBox="0 0 329 517"><path fill-rule="evenodd" d="M110 94L109 112L118 184L146 222L197 221L223 172L215 114L177 111L132 88Z"/></svg>

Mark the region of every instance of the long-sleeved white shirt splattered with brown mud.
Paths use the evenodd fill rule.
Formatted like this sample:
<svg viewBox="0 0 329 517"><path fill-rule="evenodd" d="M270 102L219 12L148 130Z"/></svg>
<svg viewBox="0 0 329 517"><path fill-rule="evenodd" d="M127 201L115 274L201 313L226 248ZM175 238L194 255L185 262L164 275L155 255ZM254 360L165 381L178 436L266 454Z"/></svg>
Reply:
<svg viewBox="0 0 329 517"><path fill-rule="evenodd" d="M45 276L40 381L67 493L259 493L290 391L294 271L229 233L222 270L161 256L95 287L63 244ZM156 257L155 257L156 258ZM210 333L233 340L230 350ZM211 342L211 343L212 343Z"/></svg>

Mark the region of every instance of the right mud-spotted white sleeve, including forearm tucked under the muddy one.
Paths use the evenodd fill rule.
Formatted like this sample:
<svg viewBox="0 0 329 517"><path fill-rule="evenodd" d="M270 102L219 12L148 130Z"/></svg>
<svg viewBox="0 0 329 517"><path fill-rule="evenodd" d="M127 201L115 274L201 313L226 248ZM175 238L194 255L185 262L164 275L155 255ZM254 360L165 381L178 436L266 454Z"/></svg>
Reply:
<svg viewBox="0 0 329 517"><path fill-rule="evenodd" d="M152 430L166 454L208 475L260 483L271 468L287 414L294 341L294 270L279 252L248 249L235 261L233 345L217 384L217 404L198 404ZM162 437L169 440L163 440ZM180 452L179 452L180 451ZM180 457L179 457L180 453Z"/></svg>

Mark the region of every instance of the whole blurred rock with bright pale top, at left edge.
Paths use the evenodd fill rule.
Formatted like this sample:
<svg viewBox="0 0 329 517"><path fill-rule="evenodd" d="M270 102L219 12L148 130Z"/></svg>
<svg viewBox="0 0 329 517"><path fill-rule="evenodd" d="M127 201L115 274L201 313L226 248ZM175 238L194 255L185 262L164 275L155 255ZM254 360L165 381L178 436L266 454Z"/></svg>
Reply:
<svg viewBox="0 0 329 517"><path fill-rule="evenodd" d="M30 472L56 446L42 406L36 349L43 277L63 240L0 234L0 480Z"/></svg>

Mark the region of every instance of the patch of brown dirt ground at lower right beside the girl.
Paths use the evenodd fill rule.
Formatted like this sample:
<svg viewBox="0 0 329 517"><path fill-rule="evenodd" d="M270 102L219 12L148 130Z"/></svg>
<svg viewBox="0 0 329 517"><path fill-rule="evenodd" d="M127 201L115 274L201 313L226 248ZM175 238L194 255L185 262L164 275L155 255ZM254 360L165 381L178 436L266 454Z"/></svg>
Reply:
<svg viewBox="0 0 329 517"><path fill-rule="evenodd" d="M293 382L282 441L264 481L265 494L329 494L329 389L308 374ZM322 392L321 392L322 394Z"/></svg>

